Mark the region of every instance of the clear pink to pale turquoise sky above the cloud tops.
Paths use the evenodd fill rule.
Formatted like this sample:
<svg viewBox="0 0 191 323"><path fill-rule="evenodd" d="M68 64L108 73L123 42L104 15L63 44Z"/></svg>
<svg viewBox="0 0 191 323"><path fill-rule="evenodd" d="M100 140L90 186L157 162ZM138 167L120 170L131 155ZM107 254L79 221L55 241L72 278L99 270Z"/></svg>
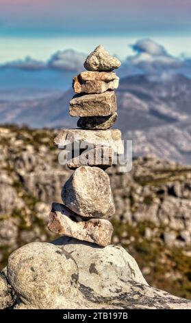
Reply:
<svg viewBox="0 0 191 323"><path fill-rule="evenodd" d="M99 43L124 59L140 38L191 56L190 14L190 0L0 0L0 63Z"/></svg>

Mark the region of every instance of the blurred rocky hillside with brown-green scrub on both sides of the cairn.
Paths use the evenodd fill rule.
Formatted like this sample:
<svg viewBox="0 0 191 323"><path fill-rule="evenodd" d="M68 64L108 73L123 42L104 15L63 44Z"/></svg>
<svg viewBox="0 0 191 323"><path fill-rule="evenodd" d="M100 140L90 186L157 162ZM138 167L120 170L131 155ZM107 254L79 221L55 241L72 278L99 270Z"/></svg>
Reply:
<svg viewBox="0 0 191 323"><path fill-rule="evenodd" d="M55 236L45 229L47 214L52 201L62 203L60 191L71 176L71 170L58 164L53 143L46 144L57 134L17 127L1 131L1 186L14 188L24 204L21 210L10 208L6 194L0 215L1 268L14 249ZM190 297L190 170L153 155L134 159L128 173L117 166L107 170L116 208L112 241L129 249L151 285L186 298Z"/></svg>

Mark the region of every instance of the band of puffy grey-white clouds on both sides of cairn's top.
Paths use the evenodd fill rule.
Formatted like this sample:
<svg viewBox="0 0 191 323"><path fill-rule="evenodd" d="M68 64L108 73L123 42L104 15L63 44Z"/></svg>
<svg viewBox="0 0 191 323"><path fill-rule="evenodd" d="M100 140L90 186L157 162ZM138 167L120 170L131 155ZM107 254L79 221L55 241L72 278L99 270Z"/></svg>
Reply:
<svg viewBox="0 0 191 323"><path fill-rule="evenodd" d="M123 64L117 71L120 77L140 73L146 74L153 79L160 77L162 80L167 80L177 73L191 77L191 59L189 56L182 55L179 58L172 56L164 46L147 38L136 41L131 45L131 50L133 50L133 54L123 61ZM75 49L65 49L64 51L60 50L55 52L55 54L44 62L27 56L24 60L13 60L8 63L2 63L0 69L14 68L34 71L40 69L58 69L60 71L73 71L77 74L79 71L84 70L83 63L86 56L87 54Z"/></svg>

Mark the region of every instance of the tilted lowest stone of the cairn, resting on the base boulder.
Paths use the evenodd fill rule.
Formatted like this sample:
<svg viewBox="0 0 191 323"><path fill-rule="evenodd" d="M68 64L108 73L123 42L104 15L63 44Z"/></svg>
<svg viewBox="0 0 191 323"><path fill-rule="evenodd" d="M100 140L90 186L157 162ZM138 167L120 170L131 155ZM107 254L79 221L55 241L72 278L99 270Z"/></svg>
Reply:
<svg viewBox="0 0 191 323"><path fill-rule="evenodd" d="M64 234L102 246L111 243L113 232L110 221L104 219L84 220L60 203L53 203L48 227L56 234Z"/></svg>

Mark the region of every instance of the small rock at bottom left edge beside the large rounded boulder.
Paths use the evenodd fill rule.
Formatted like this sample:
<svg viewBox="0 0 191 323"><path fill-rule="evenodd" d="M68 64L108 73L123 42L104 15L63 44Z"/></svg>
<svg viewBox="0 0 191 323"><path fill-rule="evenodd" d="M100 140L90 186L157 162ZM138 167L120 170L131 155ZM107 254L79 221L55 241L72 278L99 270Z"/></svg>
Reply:
<svg viewBox="0 0 191 323"><path fill-rule="evenodd" d="M3 271L0 272L0 309L12 307L16 300L14 291Z"/></svg>

